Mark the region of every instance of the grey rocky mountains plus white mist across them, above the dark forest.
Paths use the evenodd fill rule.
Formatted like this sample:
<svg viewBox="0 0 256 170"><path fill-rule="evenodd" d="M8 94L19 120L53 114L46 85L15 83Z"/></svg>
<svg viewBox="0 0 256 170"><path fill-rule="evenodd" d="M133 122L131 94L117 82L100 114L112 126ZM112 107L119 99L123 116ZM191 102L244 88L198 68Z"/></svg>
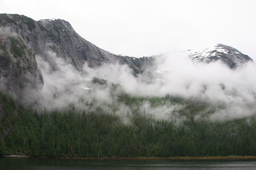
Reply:
<svg viewBox="0 0 256 170"><path fill-rule="evenodd" d="M159 97L161 102L167 95L225 106L215 111L221 117L220 111L226 115L236 107L246 115L254 112L254 81L247 83L252 78L246 69L236 70L253 69L252 59L230 46L135 58L100 49L65 20L35 21L10 14L0 18L1 90L20 102L48 109L97 103L109 110L123 94L145 101ZM241 84L247 87L241 89ZM147 102L140 106L151 107ZM172 104L165 107L172 113Z"/></svg>

